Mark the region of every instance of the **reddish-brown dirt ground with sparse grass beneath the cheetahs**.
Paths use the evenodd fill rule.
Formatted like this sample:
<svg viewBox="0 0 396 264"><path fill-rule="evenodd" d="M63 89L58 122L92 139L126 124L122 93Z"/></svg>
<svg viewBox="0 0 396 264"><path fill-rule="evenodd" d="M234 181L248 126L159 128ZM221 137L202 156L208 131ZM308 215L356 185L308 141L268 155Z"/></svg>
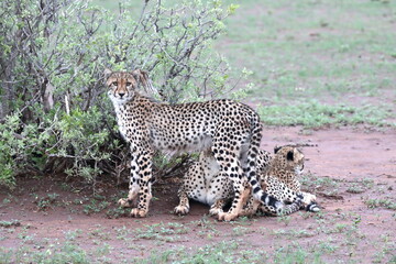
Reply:
<svg viewBox="0 0 396 264"><path fill-rule="evenodd" d="M395 130L267 128L263 135L264 150L287 143L302 145L307 157L302 188L317 195L320 213L218 222L207 216L207 206L193 202L188 216L177 217L172 213L178 202L177 185L168 183L154 187L147 218L109 219L106 211L116 210L120 190L116 194L109 188L102 196L111 204L87 215L84 208L88 211L99 204L92 204L84 190L65 190L57 180L23 179L19 184L22 189L0 193L0 248L16 254L24 246L28 256L23 257L29 258L34 252L51 254L72 241L92 262L160 263L157 255L180 245L188 249L187 255L170 254L162 262L193 260L194 254L204 254L206 245L212 246L205 248L206 252L217 249L218 253L221 249L216 246L226 242L237 244L233 254L242 256L234 263L243 258L248 260L243 263L285 263L289 257L296 257L290 263L396 262ZM249 253L250 249L255 253ZM249 258L253 254L257 258Z"/></svg>

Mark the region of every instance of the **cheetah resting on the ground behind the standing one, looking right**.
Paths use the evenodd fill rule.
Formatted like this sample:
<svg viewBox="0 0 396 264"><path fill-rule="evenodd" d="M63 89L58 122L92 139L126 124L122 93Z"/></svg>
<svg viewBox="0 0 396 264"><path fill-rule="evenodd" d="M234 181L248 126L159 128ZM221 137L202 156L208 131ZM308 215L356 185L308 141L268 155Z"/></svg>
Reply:
<svg viewBox="0 0 396 264"><path fill-rule="evenodd" d="M319 211L315 204L315 195L300 191L297 176L304 168L304 154L294 146L275 148L272 157L266 151L260 150L256 158L256 172L264 191L280 201L288 202L283 210L257 204L249 198L241 216L252 216L258 209L272 216L289 215L304 205L309 211ZM198 162L187 170L178 190L179 205L175 213L186 215L189 211L189 198L210 205L210 215L222 212L228 200L233 197L232 185L228 177L219 173L219 166L209 151L200 153Z"/></svg>

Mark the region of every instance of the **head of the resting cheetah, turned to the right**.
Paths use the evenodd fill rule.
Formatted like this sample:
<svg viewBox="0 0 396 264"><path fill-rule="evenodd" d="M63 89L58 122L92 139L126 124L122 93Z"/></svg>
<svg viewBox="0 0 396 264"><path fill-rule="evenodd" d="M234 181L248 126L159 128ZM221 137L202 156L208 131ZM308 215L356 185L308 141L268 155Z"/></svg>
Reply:
<svg viewBox="0 0 396 264"><path fill-rule="evenodd" d="M275 147L274 162L279 166L294 170L297 175L304 170L304 154L294 145Z"/></svg>

